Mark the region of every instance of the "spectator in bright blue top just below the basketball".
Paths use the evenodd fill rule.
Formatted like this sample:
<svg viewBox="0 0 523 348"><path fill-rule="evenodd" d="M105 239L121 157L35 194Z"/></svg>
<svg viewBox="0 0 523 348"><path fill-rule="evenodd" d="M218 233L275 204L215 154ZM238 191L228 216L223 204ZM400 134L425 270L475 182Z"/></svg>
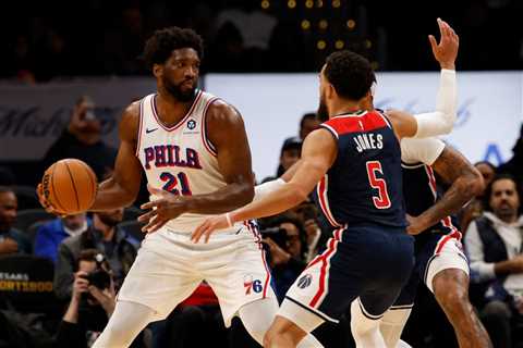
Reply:
<svg viewBox="0 0 523 348"><path fill-rule="evenodd" d="M58 247L62 240L82 234L89 224L85 213L54 219L44 224L36 232L34 253L57 263Z"/></svg>

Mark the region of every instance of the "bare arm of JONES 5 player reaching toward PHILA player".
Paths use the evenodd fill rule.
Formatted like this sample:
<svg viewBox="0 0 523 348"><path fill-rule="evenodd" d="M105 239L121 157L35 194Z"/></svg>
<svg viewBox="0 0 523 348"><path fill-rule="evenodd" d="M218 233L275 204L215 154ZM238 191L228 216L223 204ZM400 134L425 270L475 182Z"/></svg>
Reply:
<svg viewBox="0 0 523 348"><path fill-rule="evenodd" d="M332 165L337 154L338 147L330 132L323 128L314 130L303 144L300 164L290 182L231 213L207 219L193 233L192 239L197 243L205 236L207 241L214 231L232 226L238 221L270 216L295 207L307 198Z"/></svg>

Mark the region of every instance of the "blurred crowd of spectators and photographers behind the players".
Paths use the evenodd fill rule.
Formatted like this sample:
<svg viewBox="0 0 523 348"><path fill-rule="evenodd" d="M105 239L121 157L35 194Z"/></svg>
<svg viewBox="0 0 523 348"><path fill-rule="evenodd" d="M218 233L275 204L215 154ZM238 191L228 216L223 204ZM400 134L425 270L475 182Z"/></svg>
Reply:
<svg viewBox="0 0 523 348"><path fill-rule="evenodd" d="M100 138L94 101L78 99L70 124L48 150L41 171L63 158L88 163L98 179L111 173L115 151ZM272 179L300 159L304 138L319 126L306 113L287 138ZM495 347L523 347L523 127L513 157L496 167L478 162L486 187L457 215L471 265L471 301ZM104 153L104 156L98 156ZM89 347L112 313L115 294L144 238L134 207L65 217L50 215L33 186L0 175L0 347ZM445 191L445 187L439 187ZM258 221L279 301L331 231L313 201ZM457 347L434 297L419 287L403 338L414 347ZM326 347L354 345L349 318L314 334ZM205 334L204 334L205 333ZM226 330L212 289L200 286L163 321L150 324L134 347L256 347L240 321Z"/></svg>

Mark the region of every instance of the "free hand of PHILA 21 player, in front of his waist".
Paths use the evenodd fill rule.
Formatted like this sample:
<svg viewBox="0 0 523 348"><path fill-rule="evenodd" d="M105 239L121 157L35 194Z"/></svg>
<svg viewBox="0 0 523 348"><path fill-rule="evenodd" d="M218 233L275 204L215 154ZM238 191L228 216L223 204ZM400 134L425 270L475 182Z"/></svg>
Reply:
<svg viewBox="0 0 523 348"><path fill-rule="evenodd" d="M138 217L139 222L146 223L142 227L143 232L156 232L167 224L169 220L175 219L187 211L186 200L182 196L175 196L150 185L147 185L147 189L158 199L144 203L141 207L144 210L150 209L150 211Z"/></svg>

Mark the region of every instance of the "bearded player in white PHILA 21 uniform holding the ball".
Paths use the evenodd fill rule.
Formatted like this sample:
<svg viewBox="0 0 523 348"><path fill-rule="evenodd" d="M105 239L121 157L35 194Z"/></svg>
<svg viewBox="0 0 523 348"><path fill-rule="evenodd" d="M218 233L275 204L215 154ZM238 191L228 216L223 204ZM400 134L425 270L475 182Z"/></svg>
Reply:
<svg viewBox="0 0 523 348"><path fill-rule="evenodd" d="M195 246L191 233L206 214L230 211L254 195L251 152L240 113L196 88L203 54L200 37L178 27L156 32L144 57L157 80L157 94L132 103L120 124L114 173L98 187L90 210L130 206L142 170L153 200L174 199L165 224L146 236L118 295L114 313L94 347L127 347L151 321L165 319L202 281L219 298L226 325L238 313L259 343L273 321L278 302L256 225L239 222ZM143 169L142 169L143 167ZM52 202L46 202L52 203ZM302 347L321 347L306 337Z"/></svg>

